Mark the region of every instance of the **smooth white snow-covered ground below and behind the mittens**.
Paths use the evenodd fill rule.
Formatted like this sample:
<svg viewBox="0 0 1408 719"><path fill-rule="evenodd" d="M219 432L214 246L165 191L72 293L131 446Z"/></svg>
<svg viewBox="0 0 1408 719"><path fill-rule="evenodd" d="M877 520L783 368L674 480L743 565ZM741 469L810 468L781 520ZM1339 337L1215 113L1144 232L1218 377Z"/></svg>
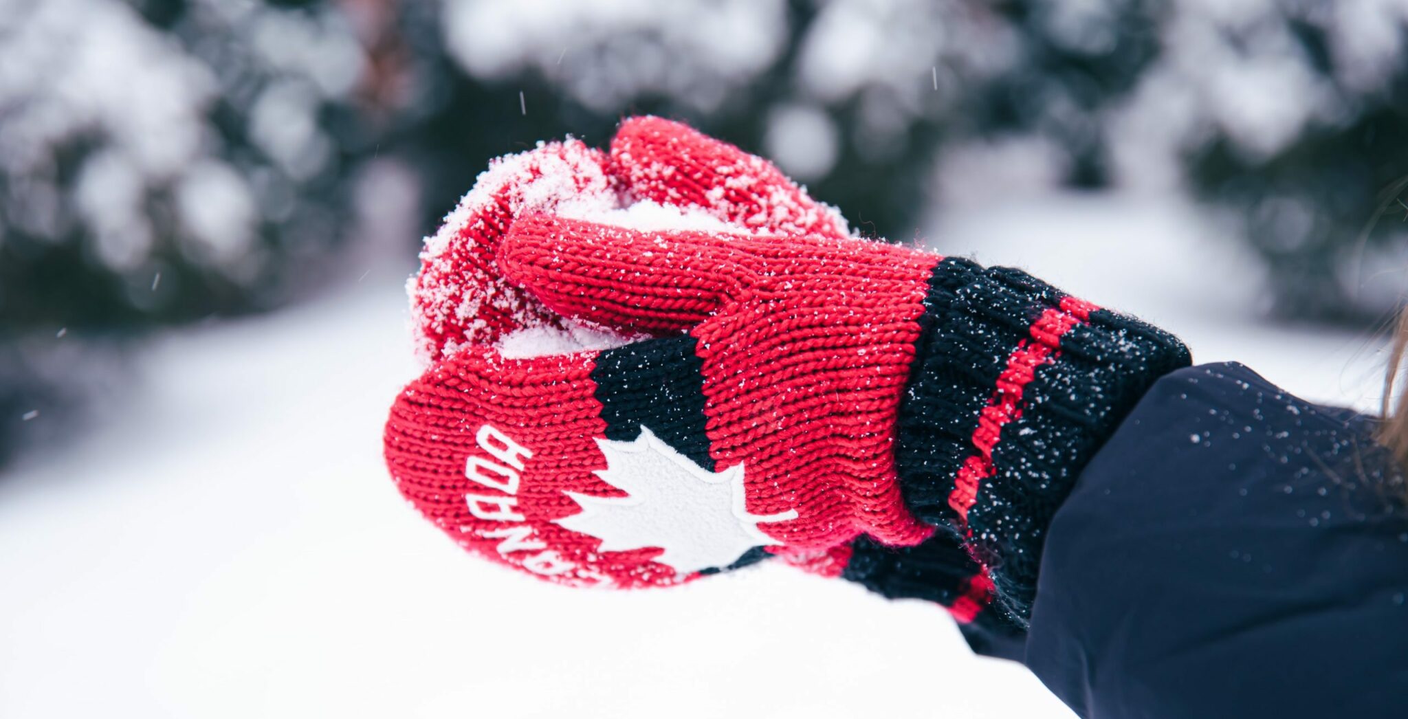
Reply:
<svg viewBox="0 0 1408 719"><path fill-rule="evenodd" d="M1177 205L1063 198L929 236L1200 362L1377 400L1378 342L1259 321L1247 260ZM926 604L780 566L565 590L463 556L382 467L415 370L403 270L156 343L111 424L0 477L0 716L1070 716Z"/></svg>

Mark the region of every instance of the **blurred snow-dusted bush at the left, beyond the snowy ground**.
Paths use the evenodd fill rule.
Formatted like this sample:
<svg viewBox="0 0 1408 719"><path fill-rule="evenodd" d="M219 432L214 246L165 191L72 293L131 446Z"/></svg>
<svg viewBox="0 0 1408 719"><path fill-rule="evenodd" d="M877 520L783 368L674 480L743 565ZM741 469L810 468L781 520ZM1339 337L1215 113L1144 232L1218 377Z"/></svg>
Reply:
<svg viewBox="0 0 1408 719"><path fill-rule="evenodd" d="M0 0L0 460L120 336L275 307L344 243L375 141L337 6Z"/></svg>

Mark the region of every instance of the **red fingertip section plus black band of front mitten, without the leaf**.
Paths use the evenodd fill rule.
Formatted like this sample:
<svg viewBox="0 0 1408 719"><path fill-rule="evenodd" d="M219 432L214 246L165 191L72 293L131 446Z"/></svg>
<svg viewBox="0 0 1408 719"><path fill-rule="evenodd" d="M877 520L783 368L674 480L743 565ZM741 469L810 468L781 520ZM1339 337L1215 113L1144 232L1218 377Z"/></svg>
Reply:
<svg viewBox="0 0 1408 719"><path fill-rule="evenodd" d="M460 353L407 387L391 408L387 466L401 494L460 546L553 581L669 585L753 564L770 554L745 547L717 567L677 573L655 561L658 549L600 552L598 537L559 523L583 511L569 492L625 497L598 474L607 469L598 438L629 442L645 426L715 470L694 346L680 336L534 360ZM486 452L484 426L532 452L520 457L517 485L507 487L501 473L514 467ZM500 467L479 470L489 484L466 469L474 457Z"/></svg>

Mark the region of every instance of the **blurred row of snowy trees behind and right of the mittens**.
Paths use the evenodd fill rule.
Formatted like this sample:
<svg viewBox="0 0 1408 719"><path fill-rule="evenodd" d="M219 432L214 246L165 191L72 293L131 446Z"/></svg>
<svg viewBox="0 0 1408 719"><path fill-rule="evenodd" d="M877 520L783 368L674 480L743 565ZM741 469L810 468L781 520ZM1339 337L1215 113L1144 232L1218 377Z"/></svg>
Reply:
<svg viewBox="0 0 1408 719"><path fill-rule="evenodd" d="M431 146L456 117L497 120L507 152L656 111L767 153L866 232L905 239L935 200L1184 189L1245 221L1284 314L1363 321L1408 284L1378 272L1408 236L1373 222L1405 210L1408 0L444 0L439 23L501 94L451 80Z"/></svg>

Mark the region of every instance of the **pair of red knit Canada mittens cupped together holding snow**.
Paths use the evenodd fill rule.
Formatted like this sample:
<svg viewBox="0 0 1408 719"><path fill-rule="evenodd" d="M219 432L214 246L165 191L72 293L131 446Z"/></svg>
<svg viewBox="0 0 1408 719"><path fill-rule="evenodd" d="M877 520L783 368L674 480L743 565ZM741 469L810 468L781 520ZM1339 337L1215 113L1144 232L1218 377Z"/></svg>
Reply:
<svg viewBox="0 0 1408 719"><path fill-rule="evenodd" d="M422 259L431 366L387 422L391 474L463 546L567 584L781 556L960 619L995 594L1019 626L1074 474L1188 362L1025 273L853 239L656 118L610 155L500 160Z"/></svg>

